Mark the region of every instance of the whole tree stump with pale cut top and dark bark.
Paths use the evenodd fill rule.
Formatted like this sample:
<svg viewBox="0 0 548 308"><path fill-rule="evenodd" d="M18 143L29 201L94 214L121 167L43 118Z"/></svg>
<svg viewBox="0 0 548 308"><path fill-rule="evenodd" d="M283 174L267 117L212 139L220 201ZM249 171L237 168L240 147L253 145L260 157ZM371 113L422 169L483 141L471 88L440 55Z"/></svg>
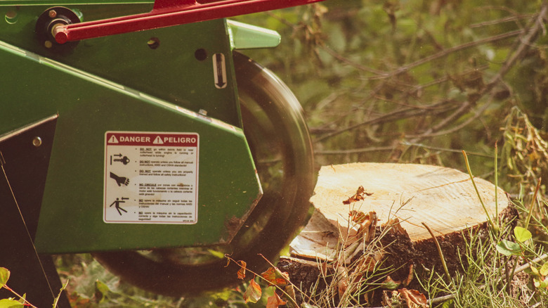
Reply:
<svg viewBox="0 0 548 308"><path fill-rule="evenodd" d="M483 179L474 183L478 193L469 174L431 165L324 166L311 198L315 212L292 241L292 257L278 267L307 290L325 264L337 271L360 257L369 258L369 267L383 260L383 267L393 269L391 281L407 287L418 267L444 272L432 232L454 273L462 269L471 232L486 231L496 217L514 225L518 218L504 191ZM371 252L367 244L375 240L377 252ZM354 251L346 253L348 248Z"/></svg>

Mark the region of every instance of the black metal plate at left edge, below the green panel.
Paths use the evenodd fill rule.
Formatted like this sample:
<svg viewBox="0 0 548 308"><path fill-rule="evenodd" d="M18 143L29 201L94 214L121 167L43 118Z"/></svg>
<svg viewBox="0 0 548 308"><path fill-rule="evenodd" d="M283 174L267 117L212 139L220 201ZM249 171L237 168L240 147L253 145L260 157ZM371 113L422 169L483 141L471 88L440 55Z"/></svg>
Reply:
<svg viewBox="0 0 548 308"><path fill-rule="evenodd" d="M53 304L61 288L53 260L38 255L36 233L57 115L0 136L0 264L8 285L37 307ZM13 297L4 288L0 298ZM58 307L70 307L63 294Z"/></svg>

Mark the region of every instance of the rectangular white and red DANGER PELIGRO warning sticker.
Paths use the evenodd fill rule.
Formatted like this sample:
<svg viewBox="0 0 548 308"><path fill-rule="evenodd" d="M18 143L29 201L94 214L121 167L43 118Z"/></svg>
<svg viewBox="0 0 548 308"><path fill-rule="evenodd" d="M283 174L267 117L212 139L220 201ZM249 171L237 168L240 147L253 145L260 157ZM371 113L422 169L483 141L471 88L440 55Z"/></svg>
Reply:
<svg viewBox="0 0 548 308"><path fill-rule="evenodd" d="M107 131L103 221L195 224L196 133Z"/></svg>

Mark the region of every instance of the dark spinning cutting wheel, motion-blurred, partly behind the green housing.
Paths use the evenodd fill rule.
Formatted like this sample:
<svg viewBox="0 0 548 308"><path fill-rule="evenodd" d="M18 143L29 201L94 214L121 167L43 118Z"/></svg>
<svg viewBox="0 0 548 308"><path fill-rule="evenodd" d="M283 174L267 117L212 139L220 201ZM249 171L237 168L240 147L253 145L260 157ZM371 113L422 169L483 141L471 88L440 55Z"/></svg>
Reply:
<svg viewBox="0 0 548 308"><path fill-rule="evenodd" d="M306 221L315 185L313 151L301 105L278 77L234 53L244 132L256 162L264 195L230 245L213 248L262 271ZM235 264L200 257L207 249L93 254L125 281L154 293L180 296L238 283ZM197 261L198 260L198 261Z"/></svg>

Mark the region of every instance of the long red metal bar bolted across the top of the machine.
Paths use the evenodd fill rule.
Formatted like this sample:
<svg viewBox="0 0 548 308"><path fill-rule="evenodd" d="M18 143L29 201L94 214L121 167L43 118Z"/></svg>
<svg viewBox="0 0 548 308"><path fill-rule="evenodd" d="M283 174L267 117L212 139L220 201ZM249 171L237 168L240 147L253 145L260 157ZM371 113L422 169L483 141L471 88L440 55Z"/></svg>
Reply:
<svg viewBox="0 0 548 308"><path fill-rule="evenodd" d="M157 0L158 1L158 0ZM79 41L108 35L152 30L161 27L183 25L204 20L232 17L278 8L289 8L312 4L322 0L226 0L209 4L195 1L162 1L155 4L150 13L129 15L105 20L95 20L72 25L59 25L53 30L53 36L59 44L67 41Z"/></svg>

